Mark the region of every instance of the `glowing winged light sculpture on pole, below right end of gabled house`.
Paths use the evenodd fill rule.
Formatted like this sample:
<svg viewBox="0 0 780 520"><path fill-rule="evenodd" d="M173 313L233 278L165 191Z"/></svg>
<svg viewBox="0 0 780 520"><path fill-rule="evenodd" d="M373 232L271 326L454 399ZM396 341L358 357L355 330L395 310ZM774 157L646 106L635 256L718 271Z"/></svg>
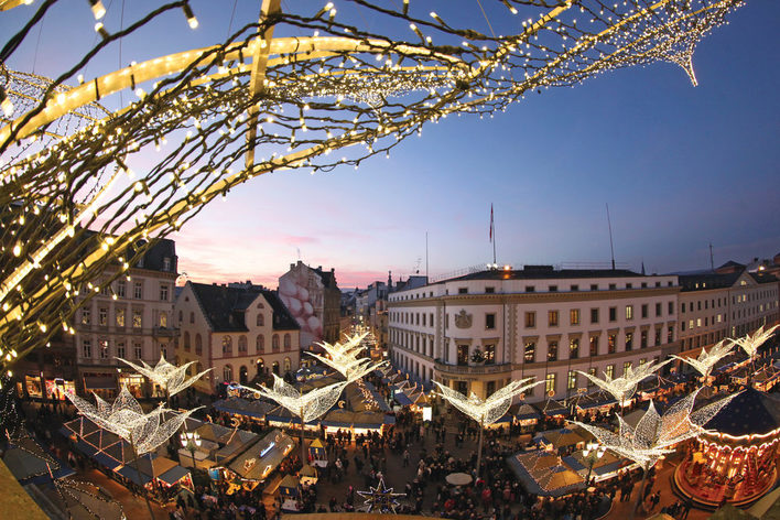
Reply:
<svg viewBox="0 0 780 520"><path fill-rule="evenodd" d="M344 388L349 384L349 381L335 382L327 387L317 388L310 392L303 393L295 389L292 384L284 382L275 373L273 375L273 388L258 387L247 388L247 390L259 393L266 399L270 399L279 403L290 413L301 418L301 461L306 464L306 451L303 445L303 430L307 422L319 419L336 404L338 397Z"/></svg>

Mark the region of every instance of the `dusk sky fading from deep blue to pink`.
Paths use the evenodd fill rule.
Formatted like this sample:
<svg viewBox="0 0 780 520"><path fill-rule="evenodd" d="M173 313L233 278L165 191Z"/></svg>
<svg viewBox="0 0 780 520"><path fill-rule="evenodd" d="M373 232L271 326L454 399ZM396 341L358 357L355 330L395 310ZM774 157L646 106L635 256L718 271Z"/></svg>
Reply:
<svg viewBox="0 0 780 520"><path fill-rule="evenodd" d="M106 26L118 28L122 2L104 2ZM10 67L30 72L34 64L37 74L54 76L62 57L94 43L86 0L63 3L44 20L37 55L34 31ZM453 3L485 30L476 1ZM172 15L175 29L128 42L121 61L110 47L85 76L224 39L234 2L192 4L198 30ZM232 28L252 21L258 4L238 0ZM15 32L31 9L0 13L0 34ZM780 252L779 22L777 1L750 1L735 12L698 45L697 87L671 64L620 69L527 97L492 119L429 124L390 159L358 171L253 180L171 237L180 271L196 281L250 279L275 288L301 258L335 268L342 289L365 286L387 280L388 271L393 279L418 268L424 274L427 231L430 274L438 277L492 260L491 204L502 264L608 262L606 203L616 260L630 269L642 261L648 272L708 268L711 242L716 266L771 257Z"/></svg>

